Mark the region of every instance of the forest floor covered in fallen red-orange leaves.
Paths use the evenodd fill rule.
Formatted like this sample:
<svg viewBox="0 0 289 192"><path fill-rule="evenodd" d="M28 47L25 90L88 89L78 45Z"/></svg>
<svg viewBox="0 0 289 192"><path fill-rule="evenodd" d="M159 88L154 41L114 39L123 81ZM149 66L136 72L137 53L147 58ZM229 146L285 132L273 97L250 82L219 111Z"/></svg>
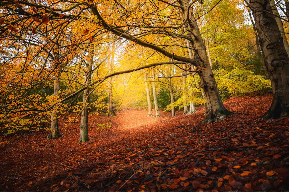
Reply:
<svg viewBox="0 0 289 192"><path fill-rule="evenodd" d="M258 120L271 102L269 93L230 98L234 115L209 125L203 107L90 115L82 144L79 122L64 118L57 140L0 138L0 191L288 191L289 117Z"/></svg>

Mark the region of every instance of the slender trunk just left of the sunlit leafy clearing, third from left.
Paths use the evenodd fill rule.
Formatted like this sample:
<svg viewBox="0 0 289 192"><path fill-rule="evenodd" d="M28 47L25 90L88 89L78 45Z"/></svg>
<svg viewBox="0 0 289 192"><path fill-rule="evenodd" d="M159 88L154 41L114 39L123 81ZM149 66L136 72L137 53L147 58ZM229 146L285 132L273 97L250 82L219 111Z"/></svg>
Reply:
<svg viewBox="0 0 289 192"><path fill-rule="evenodd" d="M112 43L112 54L111 58L109 58L108 61L108 75L112 73L112 68L114 66L114 49L115 49L115 43ZM114 111L114 104L113 104L113 99L112 99L112 77L108 78L108 115L116 115Z"/></svg>

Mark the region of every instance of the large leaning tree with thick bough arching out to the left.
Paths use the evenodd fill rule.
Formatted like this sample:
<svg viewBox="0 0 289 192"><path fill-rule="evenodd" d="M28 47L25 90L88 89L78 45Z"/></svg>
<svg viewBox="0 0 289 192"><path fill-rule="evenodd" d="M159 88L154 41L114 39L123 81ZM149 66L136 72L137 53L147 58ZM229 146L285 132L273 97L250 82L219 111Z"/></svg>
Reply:
<svg viewBox="0 0 289 192"><path fill-rule="evenodd" d="M130 33L128 33L127 30L124 30L121 27L114 26L114 25L106 22L105 19L101 16L97 7L92 6L91 10L92 10L93 14L95 14L95 16L97 16L97 18L99 19L101 24L108 31L114 33L115 35L118 35L119 37L123 37L125 39L129 39L130 41L138 43L139 45L142 45L144 47L149 47L153 50L156 50L156 51L160 52L161 54L163 54L164 56L167 56L173 60L189 62L191 64L194 64L195 66L199 66L200 68L199 68L198 74L201 78L202 88L204 91L206 102L208 104L208 116L206 117L206 119L204 120L203 123L211 123L211 122L220 121L220 120L224 119L225 117L227 117L228 115L230 115L232 113L227 111L227 109L225 109L225 107L221 101L221 97L220 97L219 92L218 92L216 81L214 79L212 69L211 69L210 64L208 62L208 56L207 56L207 52L205 49L205 45L204 45L203 39L201 37L201 33L200 33L198 25L197 25L197 20L195 19L194 15L192 14L192 11L191 11L191 9L192 9L191 6L195 3L195 1L193 1L193 2L189 2L188 0L177 1L179 3L179 5L171 4L171 3L168 3L166 1L162 1L162 2L174 7L173 8L174 10L175 10L175 8L178 8L182 14L182 18L185 18L184 20L181 21L182 23L180 23L180 24L181 24L181 27L183 25L187 25L187 27L188 27L188 31L186 31L187 35L182 34L182 35L178 35L178 36L186 38L189 41L191 41L195 55L196 55L196 59L190 59L190 58L186 58L186 57L182 57L182 56L177 56L175 54L171 54L170 52L167 52L166 50L164 50L160 46L157 46L153 43L149 43L148 41L142 41L137 37L138 35L136 35L136 36L131 35ZM121 7L120 9L123 9L123 7ZM175 31L175 28L178 28L178 27L175 27L175 26L165 27L164 25L166 24L166 22L164 22L160 19L158 19L158 21L160 22L161 26L152 26L152 25L147 24L146 22L144 22L145 26L143 26L142 24L139 26L138 25L130 25L130 26L131 27L132 26L140 27L141 30L143 30L143 31L146 31L147 28L150 28L152 30L153 29L159 29L160 30L163 28L164 29L163 31L156 31L155 33L156 34L172 35L174 37L177 36L177 34L175 34L173 32L172 33L168 32L166 30L169 28L172 28ZM125 26L125 27L127 27L127 26ZM151 34L152 32L151 31L150 32L143 32L140 35L144 35L144 33Z"/></svg>

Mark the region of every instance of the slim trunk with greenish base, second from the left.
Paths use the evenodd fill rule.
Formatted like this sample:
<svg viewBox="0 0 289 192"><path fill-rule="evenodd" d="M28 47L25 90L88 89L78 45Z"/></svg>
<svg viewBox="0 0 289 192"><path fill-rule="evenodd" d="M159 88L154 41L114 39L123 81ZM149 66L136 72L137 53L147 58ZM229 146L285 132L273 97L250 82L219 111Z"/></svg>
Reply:
<svg viewBox="0 0 289 192"><path fill-rule="evenodd" d="M91 83L91 76L92 76L92 54L88 52L88 60L86 62L86 69L85 69L85 80L84 86L87 86ZM78 143L83 143L88 141L88 106L90 102L90 87L86 88L83 92L83 102L82 108L83 111L81 112L81 122L80 122L80 136Z"/></svg>

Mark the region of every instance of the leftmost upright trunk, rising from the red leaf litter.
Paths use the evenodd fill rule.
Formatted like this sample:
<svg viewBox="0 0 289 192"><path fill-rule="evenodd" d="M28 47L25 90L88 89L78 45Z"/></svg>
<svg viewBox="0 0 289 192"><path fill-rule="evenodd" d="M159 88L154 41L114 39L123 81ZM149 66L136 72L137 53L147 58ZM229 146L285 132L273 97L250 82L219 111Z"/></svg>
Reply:
<svg viewBox="0 0 289 192"><path fill-rule="evenodd" d="M60 90L60 76L61 71L58 72L58 75L56 75L54 79L54 96L55 99L58 98L58 92ZM58 124L58 113L56 106L53 107L51 112L51 126L50 126L50 134L47 136L47 139L58 139L62 135L59 132L59 124Z"/></svg>

